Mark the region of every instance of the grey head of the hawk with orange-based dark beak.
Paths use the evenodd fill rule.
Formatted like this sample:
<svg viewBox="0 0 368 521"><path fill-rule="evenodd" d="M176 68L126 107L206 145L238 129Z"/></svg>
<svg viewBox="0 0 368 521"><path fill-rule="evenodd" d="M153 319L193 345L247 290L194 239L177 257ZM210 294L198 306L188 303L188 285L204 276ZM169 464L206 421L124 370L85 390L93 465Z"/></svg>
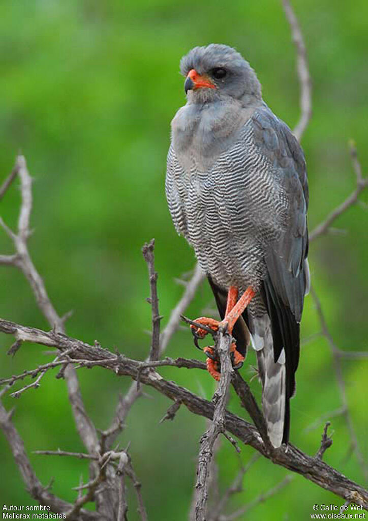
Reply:
<svg viewBox="0 0 368 521"><path fill-rule="evenodd" d="M191 103L230 96L246 104L261 100L261 85L248 62L227 45L194 47L180 62L184 89Z"/></svg>

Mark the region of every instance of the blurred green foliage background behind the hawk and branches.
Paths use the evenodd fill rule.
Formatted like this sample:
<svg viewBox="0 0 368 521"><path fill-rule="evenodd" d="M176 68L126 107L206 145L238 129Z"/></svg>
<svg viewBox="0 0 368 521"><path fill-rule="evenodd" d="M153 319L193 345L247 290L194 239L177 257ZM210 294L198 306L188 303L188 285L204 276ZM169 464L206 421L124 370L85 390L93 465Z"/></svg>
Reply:
<svg viewBox="0 0 368 521"><path fill-rule="evenodd" d="M309 54L313 79L313 118L303 138L309 182L309 222L313 229L353 190L347 142L353 138L366 172L368 165L368 4L341 0L295 0ZM0 180L8 175L19 149L34 178L30 250L60 314L74 310L67 323L71 336L143 359L149 349L150 308L144 241L156 239L160 312L166 324L183 288L175 282L194 266L194 255L177 236L164 196L164 173L170 120L185 103L179 60L195 45L210 42L235 46L251 63L273 111L291 127L298 119L295 52L281 4L273 0L187 3L168 0L15 0L0 3ZM15 227L19 190L1 202L0 215ZM365 203L367 194L361 197ZM366 350L368 318L368 213L351 208L338 219L344 234L327 235L311 245L313 283L341 349ZM0 230L0 253L12 246ZM48 328L23 275L0 269L0 316ZM187 314L195 317L213 306L203 284ZM306 299L302 336L321 330L311 300ZM0 336L1 376L16 374L50 358L40 346L24 345L14 359L6 356L11 339ZM169 356L201 356L191 334L180 330ZM250 378L252 354L242 374ZM361 452L367 457L368 361L344 361L349 408ZM55 371L56 374L56 371ZM162 375L210 399L214 381L206 374L164 369ZM119 392L130 385L106 370L80 370L88 412L98 428L109 425ZM260 398L260 387L252 381ZM206 423L181 408L173 423L159 425L169 400L147 389L152 399L134 406L121 446L131 442L136 473L151 521L187 518L195 479L198 441ZM68 458L32 455L37 449L82 451L68 405L64 381L49 373L39 390L22 394L14 421L43 483L55 477L54 491L73 501L87 464ZM297 395L291 402L291 441L309 454L320 445L322 415L341 401L326 340L303 345ZM245 416L236 400L234 412ZM334 444L325 460L348 477L364 483L342 416L332 419ZM242 447L246 463L252 450ZM0 434L3 482L0 499L34 504ZM218 454L220 486L239 468L232 446ZM286 472L259 460L244 478L244 492L230 511L280 481ZM6 479L4 479L6 477ZM130 519L136 519L134 498ZM307 519L314 503L334 497L296 476L281 492L249 516ZM241 518L242 519L242 518Z"/></svg>

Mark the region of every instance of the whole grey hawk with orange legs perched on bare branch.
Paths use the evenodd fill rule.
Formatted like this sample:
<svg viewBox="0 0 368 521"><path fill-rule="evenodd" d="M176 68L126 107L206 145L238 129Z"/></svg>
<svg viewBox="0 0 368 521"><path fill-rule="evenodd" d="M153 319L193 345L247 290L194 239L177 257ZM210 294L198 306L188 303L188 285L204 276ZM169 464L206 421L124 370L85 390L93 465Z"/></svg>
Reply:
<svg viewBox="0 0 368 521"><path fill-rule="evenodd" d="M262 99L248 61L223 44L197 46L180 62L186 104L171 122L165 190L176 231L194 249L227 328L233 367L251 342L262 410L274 447L287 445L300 321L310 287L308 179L301 146ZM219 380L219 360L205 348Z"/></svg>

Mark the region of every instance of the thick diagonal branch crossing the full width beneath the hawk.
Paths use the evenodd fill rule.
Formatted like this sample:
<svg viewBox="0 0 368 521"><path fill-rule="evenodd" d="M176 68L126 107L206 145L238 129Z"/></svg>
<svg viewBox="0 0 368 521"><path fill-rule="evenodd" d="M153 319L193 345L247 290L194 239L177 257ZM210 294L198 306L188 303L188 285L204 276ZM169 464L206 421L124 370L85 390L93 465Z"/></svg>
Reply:
<svg viewBox="0 0 368 521"><path fill-rule="evenodd" d="M127 375L136 379L140 364L142 364L142 362L128 357L119 357L106 349L89 345L80 340L67 337L64 334L60 335L54 331L46 332L40 329L25 327L8 320L0 319L0 331L12 334L25 342L30 341L56 347L60 351L69 350L73 359L104 360L105 362L100 362L99 365L118 376ZM106 359L111 359L111 362L106 362ZM209 419L213 418L213 403L199 398L196 394L178 386L172 381L165 380L155 371L147 371L147 373L143 371L141 380L142 383L153 387L170 400L181 401L192 413ZM347 479L323 461L308 456L292 444L288 444L287 451L280 448L274 450L271 455L265 448L258 430L247 421L229 412L225 412L225 429L243 443L251 445L263 456L270 458L273 463L302 475L304 478L316 483L316 485L339 495L344 500L351 500L356 504L364 506L364 508L368 508L368 491L358 485L358 483Z"/></svg>

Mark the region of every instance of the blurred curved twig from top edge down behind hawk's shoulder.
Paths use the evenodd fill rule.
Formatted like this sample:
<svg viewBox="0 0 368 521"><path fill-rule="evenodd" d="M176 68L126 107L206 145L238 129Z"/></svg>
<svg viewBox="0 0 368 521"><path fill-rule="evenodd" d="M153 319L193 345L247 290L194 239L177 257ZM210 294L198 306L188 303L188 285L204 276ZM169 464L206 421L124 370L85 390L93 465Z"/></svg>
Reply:
<svg viewBox="0 0 368 521"><path fill-rule="evenodd" d="M306 130L309 120L312 116L312 85L309 74L308 58L306 46L304 45L303 34L294 10L289 0L282 0L285 15L291 29L291 36L296 48L297 70L300 83L300 109L301 114L299 121L293 132L298 141L300 141L303 132Z"/></svg>

